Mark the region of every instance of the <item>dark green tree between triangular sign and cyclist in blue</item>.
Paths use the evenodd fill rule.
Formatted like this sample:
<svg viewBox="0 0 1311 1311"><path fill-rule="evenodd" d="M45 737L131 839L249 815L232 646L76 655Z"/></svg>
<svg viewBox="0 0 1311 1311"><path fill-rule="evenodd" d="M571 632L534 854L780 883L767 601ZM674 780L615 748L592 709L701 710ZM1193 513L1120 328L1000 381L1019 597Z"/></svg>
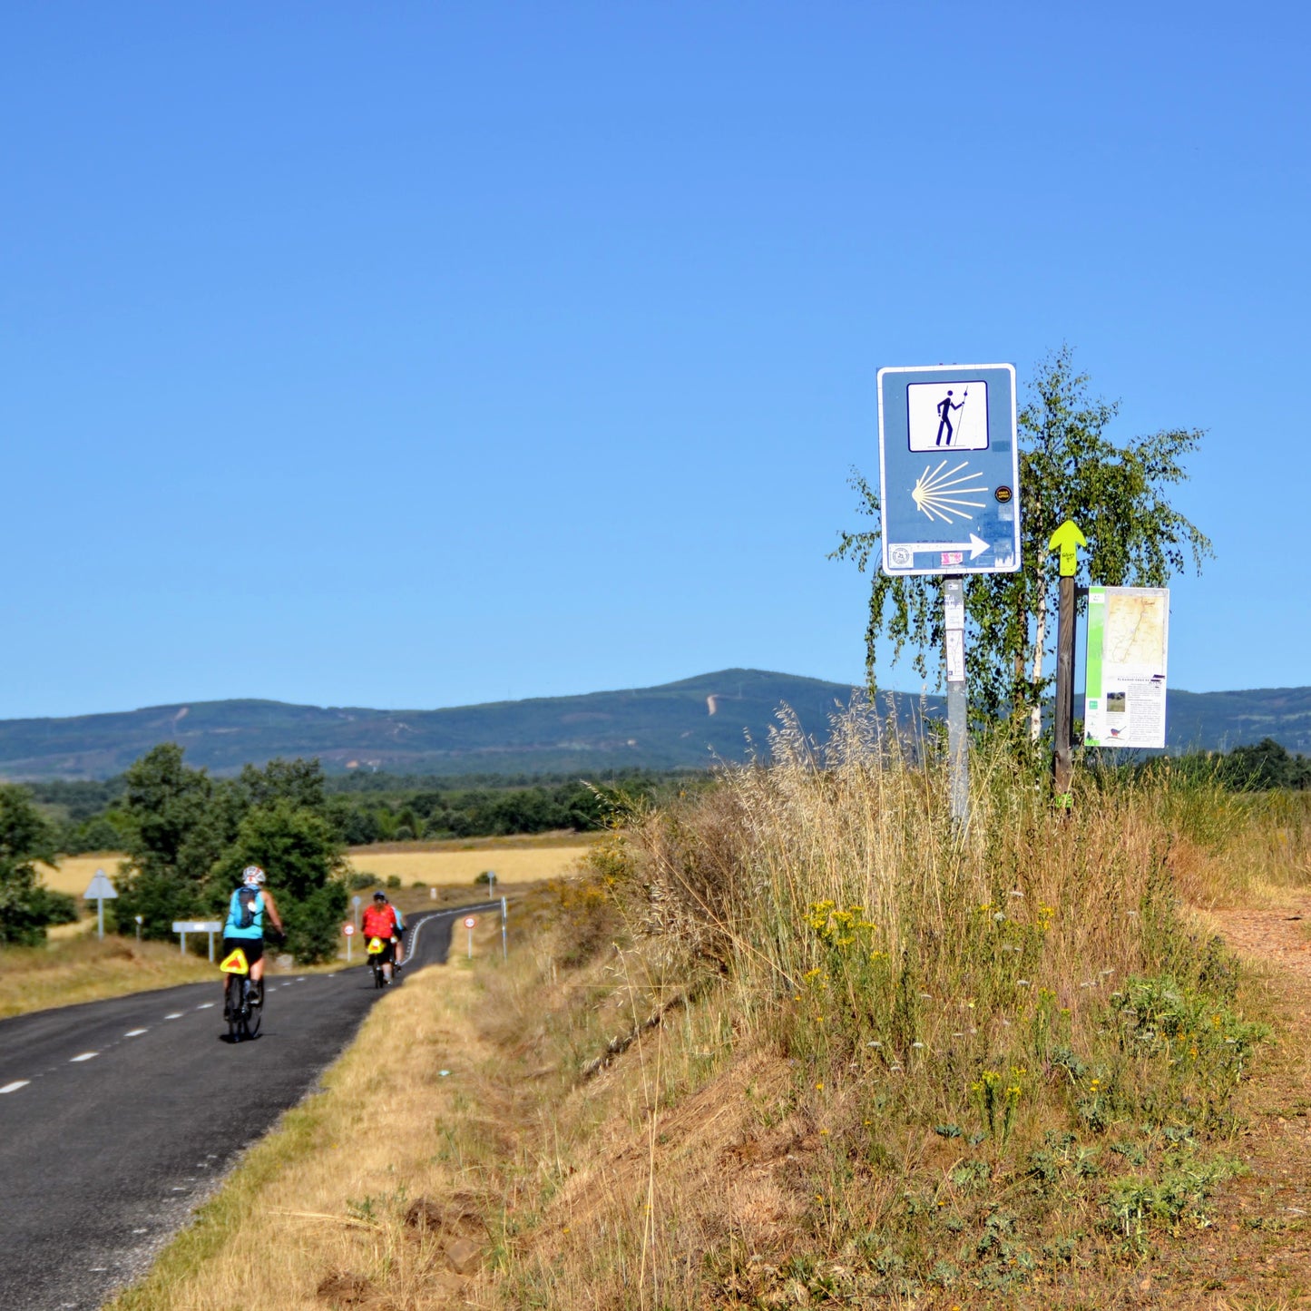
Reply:
<svg viewBox="0 0 1311 1311"><path fill-rule="evenodd" d="M214 783L182 763L182 749L164 742L127 771L119 802L127 859L119 922L142 916L146 937L172 936L173 920L205 906L210 871L223 848L224 826L214 810Z"/></svg>

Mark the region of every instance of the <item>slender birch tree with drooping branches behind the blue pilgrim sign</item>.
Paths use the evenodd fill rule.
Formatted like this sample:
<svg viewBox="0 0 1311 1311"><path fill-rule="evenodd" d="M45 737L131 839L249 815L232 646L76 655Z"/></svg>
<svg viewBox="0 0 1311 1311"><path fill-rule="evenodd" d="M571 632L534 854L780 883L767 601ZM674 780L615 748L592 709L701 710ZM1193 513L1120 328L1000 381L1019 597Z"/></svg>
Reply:
<svg viewBox="0 0 1311 1311"><path fill-rule="evenodd" d="M1055 640L1058 556L1051 534L1074 519L1088 539L1080 582L1160 587L1192 558L1201 572L1210 540L1172 505L1172 488L1186 481L1184 458L1201 429L1163 429L1122 446L1106 433L1118 402L1093 399L1088 375L1075 370L1068 346L1037 370L1032 399L1020 412L1021 568L1012 574L974 574L965 581L971 709L981 718L1009 713L1036 732L1051 678L1047 656ZM878 518L878 493L859 473L852 486L863 513ZM943 648L943 579L893 578L878 569L880 532L843 532L836 558L872 569L865 628L865 670L876 686L877 644L895 661L910 648L912 666L928 678L928 653Z"/></svg>

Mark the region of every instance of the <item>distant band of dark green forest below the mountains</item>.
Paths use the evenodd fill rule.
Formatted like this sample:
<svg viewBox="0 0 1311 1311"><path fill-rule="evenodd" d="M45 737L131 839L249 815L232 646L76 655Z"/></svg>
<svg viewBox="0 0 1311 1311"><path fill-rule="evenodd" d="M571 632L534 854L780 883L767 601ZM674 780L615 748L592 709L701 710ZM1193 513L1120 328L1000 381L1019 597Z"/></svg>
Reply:
<svg viewBox="0 0 1311 1311"><path fill-rule="evenodd" d="M1108 763L1116 753L1106 753ZM1131 758L1154 768L1162 758ZM1232 791L1311 789L1311 758L1272 738L1228 753L1171 756L1172 770L1214 773ZM376 773L325 775L326 814L347 847L451 838L603 829L616 801L659 805L679 792L705 787L708 770L610 770L597 779L570 775L464 776ZM24 787L55 830L67 856L119 851L126 838L119 802L126 775L100 780L49 780Z"/></svg>

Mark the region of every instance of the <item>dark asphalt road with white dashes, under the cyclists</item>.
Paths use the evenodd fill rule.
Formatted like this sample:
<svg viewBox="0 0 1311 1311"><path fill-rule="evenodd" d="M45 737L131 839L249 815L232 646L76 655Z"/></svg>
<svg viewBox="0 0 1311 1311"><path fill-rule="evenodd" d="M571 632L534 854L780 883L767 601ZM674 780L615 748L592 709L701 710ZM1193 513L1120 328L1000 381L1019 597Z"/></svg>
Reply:
<svg viewBox="0 0 1311 1311"><path fill-rule="evenodd" d="M412 919L402 981L472 909ZM380 995L363 965L270 978L232 1045L220 979L0 1021L3 1311L93 1311L142 1274Z"/></svg>

